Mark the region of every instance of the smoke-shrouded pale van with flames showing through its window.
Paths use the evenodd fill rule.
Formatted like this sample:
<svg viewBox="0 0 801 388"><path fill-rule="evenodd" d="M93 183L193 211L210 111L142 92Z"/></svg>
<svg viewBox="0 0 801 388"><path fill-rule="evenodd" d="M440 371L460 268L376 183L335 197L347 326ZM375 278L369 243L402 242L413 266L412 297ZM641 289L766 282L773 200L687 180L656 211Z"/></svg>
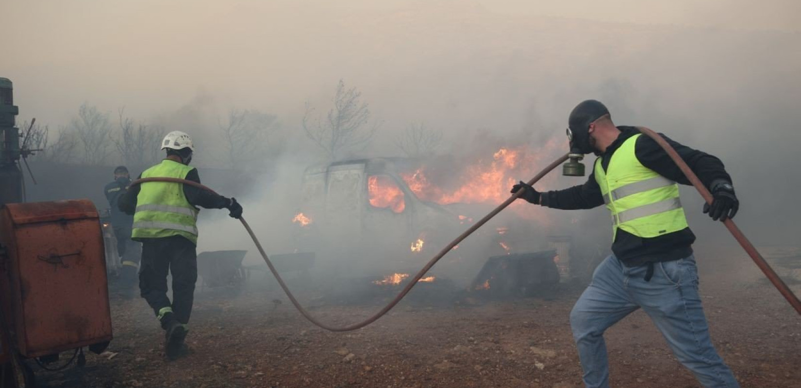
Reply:
<svg viewBox="0 0 801 388"><path fill-rule="evenodd" d="M362 260L355 252L367 250L397 266L413 265L444 246L453 237L447 232L459 226L458 215L417 198L401 178L399 162L356 159L307 169L292 220L297 244L356 262Z"/></svg>

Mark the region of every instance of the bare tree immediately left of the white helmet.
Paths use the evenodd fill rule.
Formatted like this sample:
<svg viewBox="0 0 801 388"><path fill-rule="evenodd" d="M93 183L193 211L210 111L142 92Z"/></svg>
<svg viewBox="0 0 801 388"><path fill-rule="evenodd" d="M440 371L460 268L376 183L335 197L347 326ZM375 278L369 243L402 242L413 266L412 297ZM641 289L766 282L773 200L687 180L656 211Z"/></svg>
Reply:
<svg viewBox="0 0 801 388"><path fill-rule="evenodd" d="M117 151L127 166L147 166L155 162L161 142L163 128L135 123L123 116L125 108L119 108L119 134L112 138Z"/></svg>

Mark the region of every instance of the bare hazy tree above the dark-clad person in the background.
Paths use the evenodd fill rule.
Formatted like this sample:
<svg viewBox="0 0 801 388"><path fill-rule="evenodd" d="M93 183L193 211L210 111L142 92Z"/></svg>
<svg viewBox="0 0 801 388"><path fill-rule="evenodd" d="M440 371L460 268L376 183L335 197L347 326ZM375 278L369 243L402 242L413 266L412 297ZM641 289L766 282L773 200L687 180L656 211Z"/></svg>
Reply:
<svg viewBox="0 0 801 388"><path fill-rule="evenodd" d="M83 149L81 162L99 166L107 161L111 154L111 124L108 114L84 103L78 108L78 117L72 119L68 128L74 131L78 144Z"/></svg>

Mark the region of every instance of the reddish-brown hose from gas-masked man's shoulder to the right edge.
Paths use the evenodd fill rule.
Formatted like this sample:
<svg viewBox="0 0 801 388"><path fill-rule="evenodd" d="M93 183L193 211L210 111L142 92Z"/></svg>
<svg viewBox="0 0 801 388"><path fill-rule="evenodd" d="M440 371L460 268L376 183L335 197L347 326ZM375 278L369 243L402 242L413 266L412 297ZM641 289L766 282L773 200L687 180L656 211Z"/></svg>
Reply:
<svg viewBox="0 0 801 388"><path fill-rule="evenodd" d="M706 187L703 186L701 180L698 179L692 170L690 170L690 166L687 166L682 158L678 156L676 150L674 150L673 147L662 138L662 136L659 136L653 130L649 130L644 126L638 126L638 130L640 130L640 132L643 134L648 135L650 138L653 138L654 141L657 142L657 144L661 146L668 155L670 155L670 158L673 159L673 162L676 163L676 166L682 170L682 173L684 173L687 179L690 180L690 183L695 186L695 190L698 190L698 194L701 194L704 201L711 205L712 201L714 200L714 198L712 198L712 194L710 194L709 190L706 190ZM723 225L725 225L726 228L731 232L731 235L735 237L735 240L740 243L740 246L743 246L743 250L745 250L746 253L751 256L751 259L754 260L756 266L762 270L763 274L767 276L767 279L773 283L773 286L775 286L777 290L779 290L779 293L781 293L782 296L787 299L787 302L790 302L790 305L793 306L796 312L801 314L801 301L799 301L799 298L795 296L793 290L791 290L790 287L788 287L787 284L782 281L782 278L779 278L779 275L775 273L773 268L771 268L771 265L765 261L762 255L756 250L754 245L748 241L748 238L746 238L745 234L743 234L737 225L735 225L735 222L731 221L731 218L727 218L727 220L723 222Z"/></svg>

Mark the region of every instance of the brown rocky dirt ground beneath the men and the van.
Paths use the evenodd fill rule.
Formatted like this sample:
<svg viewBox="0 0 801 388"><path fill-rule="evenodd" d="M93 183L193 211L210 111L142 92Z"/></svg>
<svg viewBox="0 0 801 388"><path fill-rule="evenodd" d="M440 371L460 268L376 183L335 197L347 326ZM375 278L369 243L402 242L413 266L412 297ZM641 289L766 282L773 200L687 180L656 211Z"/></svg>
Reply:
<svg viewBox="0 0 801 388"><path fill-rule="evenodd" d="M699 258L719 352L743 387L801 388L801 319L749 259L727 260L720 266ZM175 362L165 360L162 331L143 300L114 297L111 353L87 354L81 370L38 370L38 386L578 388L568 314L581 290L563 285L548 298L461 298L449 306L401 303L350 333L312 326L280 290L263 284L248 284L235 297L198 291L187 338L192 354ZM313 314L344 324L381 303L319 305ZM699 386L642 312L611 328L606 340L614 387Z"/></svg>

